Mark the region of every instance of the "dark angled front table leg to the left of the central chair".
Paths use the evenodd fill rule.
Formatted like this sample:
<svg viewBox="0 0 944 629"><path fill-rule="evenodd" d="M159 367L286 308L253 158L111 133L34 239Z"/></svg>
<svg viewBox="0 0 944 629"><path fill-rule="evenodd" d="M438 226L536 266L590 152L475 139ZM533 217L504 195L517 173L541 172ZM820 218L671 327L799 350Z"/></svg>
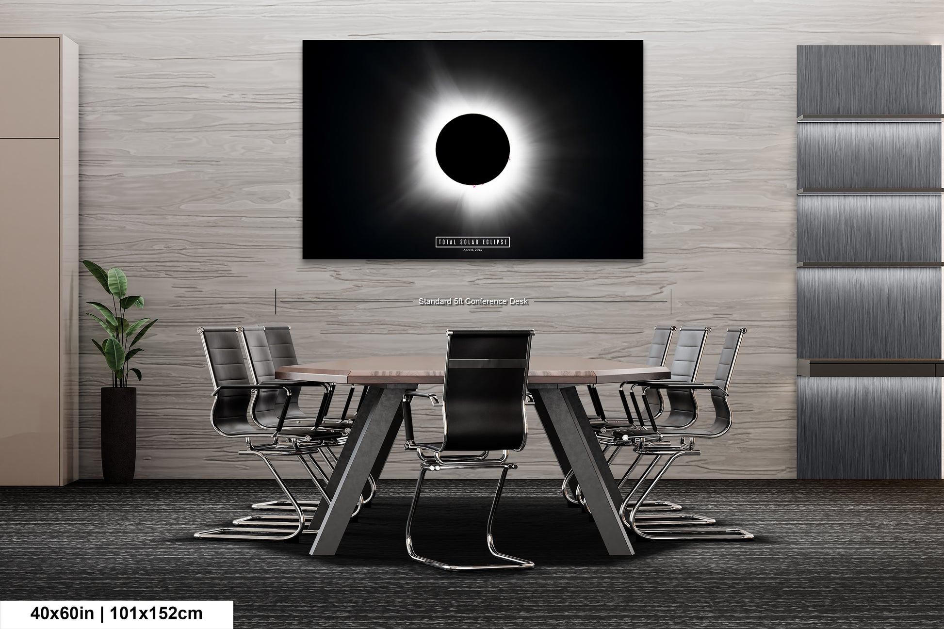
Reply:
<svg viewBox="0 0 944 629"><path fill-rule="evenodd" d="M389 386L389 385L388 385ZM347 436L347 443L338 465L334 467L329 483L330 504L322 501L312 517L310 529L317 528L311 554L334 554L345 535L347 522L357 505L367 475L376 463L380 450L391 431L396 413L403 399L404 389L414 389L414 384L397 385L398 388L370 387L355 426Z"/></svg>

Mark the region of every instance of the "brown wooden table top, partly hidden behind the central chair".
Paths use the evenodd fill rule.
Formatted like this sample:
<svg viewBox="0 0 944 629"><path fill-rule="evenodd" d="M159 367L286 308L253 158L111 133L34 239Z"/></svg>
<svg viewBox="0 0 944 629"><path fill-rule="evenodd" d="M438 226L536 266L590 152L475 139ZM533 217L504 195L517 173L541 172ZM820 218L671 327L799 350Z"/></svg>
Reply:
<svg viewBox="0 0 944 629"><path fill-rule="evenodd" d="M286 365L276 370L281 380L339 384L442 384L445 356L375 356L325 363ZM531 356L528 382L533 384L602 384L668 378L664 366L623 363L601 358Z"/></svg>

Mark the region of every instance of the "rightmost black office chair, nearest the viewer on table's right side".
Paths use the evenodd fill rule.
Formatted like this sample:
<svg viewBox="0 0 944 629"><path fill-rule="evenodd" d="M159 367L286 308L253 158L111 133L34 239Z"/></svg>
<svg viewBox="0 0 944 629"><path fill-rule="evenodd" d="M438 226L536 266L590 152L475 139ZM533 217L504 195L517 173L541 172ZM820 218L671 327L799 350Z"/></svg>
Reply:
<svg viewBox="0 0 944 629"><path fill-rule="evenodd" d="M652 488L662 479L668 468L675 459L686 455L699 455L700 450L695 450L695 438L713 439L727 433L731 430L733 415L731 406L728 404L728 388L731 384L731 377L734 371L734 363L737 360L738 351L741 348L741 339L747 333L747 328L728 328L724 338L724 346L721 349L721 355L718 358L717 369L715 371L715 380L711 384L702 384L700 382L651 382L650 387L658 387L666 391L666 396L671 399L673 394L685 394L685 396L695 397L697 391L710 391L712 404L715 407L715 420L707 429L694 428L691 423L681 428L673 427L671 424L665 426L662 422L656 422L653 419L651 410L648 407L647 399L643 398L645 411L645 423L652 434L640 434L640 429L635 431L621 432L616 430L613 433L615 440L622 441L631 445L637 452L636 460L632 467L635 467L643 456L651 456L652 461L643 471L632 490L620 506L623 522L632 528L632 531L641 537L648 539L750 539L753 537L743 529L716 529L707 526L696 526L691 528L672 527L672 528L650 528L643 526L640 528L638 518L639 505L646 500ZM632 402L638 406L635 396L632 396ZM671 415L669 415L669 418ZM680 444L673 446L666 441L666 437L680 437ZM645 483L649 474L655 468L656 464L663 458L666 458L665 465L652 478L651 483L639 496L638 501L632 503L632 497ZM632 468L631 468L632 469ZM632 510L629 516L626 510L632 504ZM713 520L714 521L714 520Z"/></svg>

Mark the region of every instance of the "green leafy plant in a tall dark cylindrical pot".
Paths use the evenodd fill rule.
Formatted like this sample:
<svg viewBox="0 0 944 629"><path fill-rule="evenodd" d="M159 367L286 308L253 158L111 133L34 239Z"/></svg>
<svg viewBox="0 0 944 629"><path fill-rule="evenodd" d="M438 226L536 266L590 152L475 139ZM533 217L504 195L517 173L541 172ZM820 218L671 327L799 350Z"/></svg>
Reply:
<svg viewBox="0 0 944 629"><path fill-rule="evenodd" d="M145 316L137 321L128 321L127 310L143 308L144 299L127 294L127 278L122 270L110 268L106 271L88 260L82 263L111 296L111 308L97 301L87 302L98 310L100 317L86 313L108 332L108 338L101 343L92 340L111 370L111 386L102 387L102 476L106 483L130 483L134 479L138 390L128 386L127 381L132 372L140 381L141 370L128 364L142 351L142 348L134 346L158 320Z"/></svg>

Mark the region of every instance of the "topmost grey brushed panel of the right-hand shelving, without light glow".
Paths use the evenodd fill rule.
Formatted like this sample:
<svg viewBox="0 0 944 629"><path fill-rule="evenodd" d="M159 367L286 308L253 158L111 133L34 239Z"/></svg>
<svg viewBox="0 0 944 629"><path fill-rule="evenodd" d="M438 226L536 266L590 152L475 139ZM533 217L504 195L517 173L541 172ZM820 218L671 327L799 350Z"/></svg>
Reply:
<svg viewBox="0 0 944 629"><path fill-rule="evenodd" d="M939 46L797 46L797 115L940 112Z"/></svg>

